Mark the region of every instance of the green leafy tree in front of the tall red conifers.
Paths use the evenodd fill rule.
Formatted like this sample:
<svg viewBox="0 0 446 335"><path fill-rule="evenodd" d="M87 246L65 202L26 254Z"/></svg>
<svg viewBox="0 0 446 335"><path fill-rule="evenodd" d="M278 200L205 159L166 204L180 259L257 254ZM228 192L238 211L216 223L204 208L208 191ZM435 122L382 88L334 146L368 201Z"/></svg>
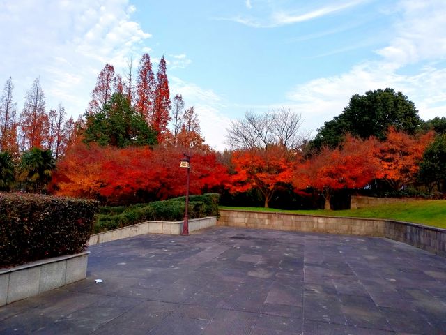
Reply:
<svg viewBox="0 0 446 335"><path fill-rule="evenodd" d="M102 111L86 115L84 141L102 146L128 147L153 145L156 133L143 117L132 108L123 94L115 93Z"/></svg>

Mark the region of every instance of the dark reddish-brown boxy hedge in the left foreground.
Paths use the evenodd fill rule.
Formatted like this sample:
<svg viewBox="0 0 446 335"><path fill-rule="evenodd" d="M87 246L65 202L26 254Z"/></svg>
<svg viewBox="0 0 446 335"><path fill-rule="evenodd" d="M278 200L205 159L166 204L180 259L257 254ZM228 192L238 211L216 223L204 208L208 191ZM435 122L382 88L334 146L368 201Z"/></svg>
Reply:
<svg viewBox="0 0 446 335"><path fill-rule="evenodd" d="M0 193L0 267L85 250L99 202Z"/></svg>

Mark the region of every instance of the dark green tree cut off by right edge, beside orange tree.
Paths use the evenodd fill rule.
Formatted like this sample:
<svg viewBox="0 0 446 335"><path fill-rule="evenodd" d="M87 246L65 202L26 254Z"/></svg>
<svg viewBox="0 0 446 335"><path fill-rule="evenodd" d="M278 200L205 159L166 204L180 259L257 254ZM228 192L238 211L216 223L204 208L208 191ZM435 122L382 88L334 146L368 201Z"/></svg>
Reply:
<svg viewBox="0 0 446 335"><path fill-rule="evenodd" d="M433 186L437 186L438 192L446 191L446 133L437 136L424 151L418 179L426 185L429 193Z"/></svg>

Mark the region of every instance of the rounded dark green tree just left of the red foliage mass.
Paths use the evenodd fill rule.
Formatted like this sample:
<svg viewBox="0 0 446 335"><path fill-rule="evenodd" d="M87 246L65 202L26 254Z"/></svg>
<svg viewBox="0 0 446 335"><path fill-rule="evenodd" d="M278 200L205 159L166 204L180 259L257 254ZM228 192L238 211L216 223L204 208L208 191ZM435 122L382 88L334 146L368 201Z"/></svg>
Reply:
<svg viewBox="0 0 446 335"><path fill-rule="evenodd" d="M52 172L56 168L56 160L52 151L32 148L24 151L20 160L20 181L24 191L42 193L45 191Z"/></svg>

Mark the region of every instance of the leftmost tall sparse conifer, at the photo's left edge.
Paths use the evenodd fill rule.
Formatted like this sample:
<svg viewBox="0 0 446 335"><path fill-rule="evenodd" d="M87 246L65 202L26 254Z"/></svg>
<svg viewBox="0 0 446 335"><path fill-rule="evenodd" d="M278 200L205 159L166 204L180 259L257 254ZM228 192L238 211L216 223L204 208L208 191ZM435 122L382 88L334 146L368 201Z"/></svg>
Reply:
<svg viewBox="0 0 446 335"><path fill-rule="evenodd" d="M0 101L0 150L18 154L17 104L13 101L14 84L11 77L6 81Z"/></svg>

